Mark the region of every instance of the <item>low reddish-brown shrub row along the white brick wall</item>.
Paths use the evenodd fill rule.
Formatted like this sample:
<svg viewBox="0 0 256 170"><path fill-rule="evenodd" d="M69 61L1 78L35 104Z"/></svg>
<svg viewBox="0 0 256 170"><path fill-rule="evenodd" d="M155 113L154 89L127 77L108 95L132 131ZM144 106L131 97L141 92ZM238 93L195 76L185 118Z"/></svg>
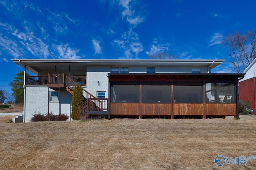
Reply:
<svg viewBox="0 0 256 170"><path fill-rule="evenodd" d="M36 113L33 115L30 121L32 122L39 122L39 121L66 121L68 119L68 116L65 114L60 115L54 115L52 112L42 114L42 113Z"/></svg>

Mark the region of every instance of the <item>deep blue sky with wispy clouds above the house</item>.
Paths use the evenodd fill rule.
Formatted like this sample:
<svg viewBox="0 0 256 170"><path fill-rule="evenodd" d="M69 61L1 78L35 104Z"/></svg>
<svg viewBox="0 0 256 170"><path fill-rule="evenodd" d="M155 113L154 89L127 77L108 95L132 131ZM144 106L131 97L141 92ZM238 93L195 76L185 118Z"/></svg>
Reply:
<svg viewBox="0 0 256 170"><path fill-rule="evenodd" d="M253 0L0 0L0 89L22 67L11 59L226 59L221 42L256 29Z"/></svg>

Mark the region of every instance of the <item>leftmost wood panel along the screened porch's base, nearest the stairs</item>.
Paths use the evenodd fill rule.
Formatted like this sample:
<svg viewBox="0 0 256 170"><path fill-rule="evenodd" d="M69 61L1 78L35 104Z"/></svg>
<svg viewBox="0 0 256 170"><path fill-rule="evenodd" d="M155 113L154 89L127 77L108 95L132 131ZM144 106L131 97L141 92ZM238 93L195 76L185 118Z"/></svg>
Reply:
<svg viewBox="0 0 256 170"><path fill-rule="evenodd" d="M110 103L111 115L140 115L140 103Z"/></svg>

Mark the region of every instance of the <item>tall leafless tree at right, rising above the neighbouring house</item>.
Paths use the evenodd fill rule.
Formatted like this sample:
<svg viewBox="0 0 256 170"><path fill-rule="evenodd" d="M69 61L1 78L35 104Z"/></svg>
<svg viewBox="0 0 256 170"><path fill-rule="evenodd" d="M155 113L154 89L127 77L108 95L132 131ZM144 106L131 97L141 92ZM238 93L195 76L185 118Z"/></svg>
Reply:
<svg viewBox="0 0 256 170"><path fill-rule="evenodd" d="M256 30L244 34L235 32L225 37L223 45L228 49L230 61L241 73L256 57Z"/></svg>

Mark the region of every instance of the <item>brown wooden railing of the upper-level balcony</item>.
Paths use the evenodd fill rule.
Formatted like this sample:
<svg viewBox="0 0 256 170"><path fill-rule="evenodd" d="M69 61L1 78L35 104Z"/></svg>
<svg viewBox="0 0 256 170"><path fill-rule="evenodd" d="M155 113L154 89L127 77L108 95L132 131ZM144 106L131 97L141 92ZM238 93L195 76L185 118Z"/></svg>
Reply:
<svg viewBox="0 0 256 170"><path fill-rule="evenodd" d="M86 86L86 76L70 76L75 83ZM25 85L46 85L47 87L65 87L69 80L65 73L48 73L48 75L26 76Z"/></svg>

